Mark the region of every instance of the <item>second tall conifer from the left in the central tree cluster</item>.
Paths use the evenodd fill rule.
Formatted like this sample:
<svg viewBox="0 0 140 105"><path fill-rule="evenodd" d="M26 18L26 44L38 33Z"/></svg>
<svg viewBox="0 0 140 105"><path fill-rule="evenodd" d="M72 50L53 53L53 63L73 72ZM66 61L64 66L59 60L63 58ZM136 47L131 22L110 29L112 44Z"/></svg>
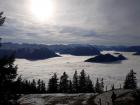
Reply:
<svg viewBox="0 0 140 105"><path fill-rule="evenodd" d="M68 75L66 72L60 77L59 89L62 93L67 93L69 88Z"/></svg>

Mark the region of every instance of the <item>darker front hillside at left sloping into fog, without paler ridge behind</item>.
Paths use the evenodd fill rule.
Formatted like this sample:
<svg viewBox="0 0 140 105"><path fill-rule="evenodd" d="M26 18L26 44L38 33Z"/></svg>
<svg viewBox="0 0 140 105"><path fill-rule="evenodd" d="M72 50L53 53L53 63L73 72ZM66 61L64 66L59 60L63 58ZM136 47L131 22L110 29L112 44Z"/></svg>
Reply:
<svg viewBox="0 0 140 105"><path fill-rule="evenodd" d="M20 49L0 49L0 57L9 56L15 54L16 58L28 59L28 60L40 60L47 59L52 57L58 57L58 55L47 49L47 48L38 48L38 49L29 49L29 48L20 48Z"/></svg>

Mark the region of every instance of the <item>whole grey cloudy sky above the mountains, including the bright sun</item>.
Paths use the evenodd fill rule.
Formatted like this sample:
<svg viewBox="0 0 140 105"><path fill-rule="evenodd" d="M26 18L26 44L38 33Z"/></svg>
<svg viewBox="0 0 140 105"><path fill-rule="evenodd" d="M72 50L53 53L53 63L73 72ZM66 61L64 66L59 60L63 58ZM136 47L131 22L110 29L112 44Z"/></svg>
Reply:
<svg viewBox="0 0 140 105"><path fill-rule="evenodd" d="M3 42L140 45L140 0L46 1L0 0Z"/></svg>

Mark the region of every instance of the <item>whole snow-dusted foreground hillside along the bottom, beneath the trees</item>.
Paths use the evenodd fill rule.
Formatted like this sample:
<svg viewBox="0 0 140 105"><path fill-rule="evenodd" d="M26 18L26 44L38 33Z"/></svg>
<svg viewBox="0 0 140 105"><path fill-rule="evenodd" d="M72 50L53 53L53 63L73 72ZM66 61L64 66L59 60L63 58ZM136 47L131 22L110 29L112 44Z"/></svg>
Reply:
<svg viewBox="0 0 140 105"><path fill-rule="evenodd" d="M114 90L117 95L116 105L135 105L133 90ZM30 94L23 95L19 102L21 105L112 105L112 91L102 94L81 93L81 94Z"/></svg>

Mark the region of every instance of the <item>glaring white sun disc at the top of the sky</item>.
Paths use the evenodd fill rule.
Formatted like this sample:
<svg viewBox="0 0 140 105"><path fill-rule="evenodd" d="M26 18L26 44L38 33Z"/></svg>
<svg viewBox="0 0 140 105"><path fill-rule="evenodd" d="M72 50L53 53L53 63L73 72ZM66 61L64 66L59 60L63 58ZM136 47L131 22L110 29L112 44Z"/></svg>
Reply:
<svg viewBox="0 0 140 105"><path fill-rule="evenodd" d="M53 17L54 4L52 0L31 0L31 13L39 21L48 21Z"/></svg>

